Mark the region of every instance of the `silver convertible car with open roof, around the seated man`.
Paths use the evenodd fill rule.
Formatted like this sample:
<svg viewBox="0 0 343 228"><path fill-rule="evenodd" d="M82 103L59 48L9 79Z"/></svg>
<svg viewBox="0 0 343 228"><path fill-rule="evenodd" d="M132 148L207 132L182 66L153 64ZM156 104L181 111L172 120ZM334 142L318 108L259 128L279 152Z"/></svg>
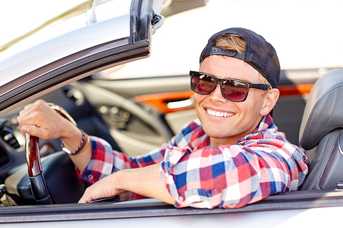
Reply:
<svg viewBox="0 0 343 228"><path fill-rule="evenodd" d="M43 99L62 107L80 129L104 138L117 151L134 156L159 147L196 118L189 75L170 71L128 76L127 71L143 71L135 64L153 55L153 40L165 18L191 9L195 14L210 4L85 1L0 47L1 227L340 224L340 66L283 69L274 122L307 153L310 171L298 191L274 194L239 209L176 209L155 199L78 204L85 187L69 155L61 152L60 140L38 140L19 131L16 117L25 104ZM151 64L146 68L158 68Z"/></svg>

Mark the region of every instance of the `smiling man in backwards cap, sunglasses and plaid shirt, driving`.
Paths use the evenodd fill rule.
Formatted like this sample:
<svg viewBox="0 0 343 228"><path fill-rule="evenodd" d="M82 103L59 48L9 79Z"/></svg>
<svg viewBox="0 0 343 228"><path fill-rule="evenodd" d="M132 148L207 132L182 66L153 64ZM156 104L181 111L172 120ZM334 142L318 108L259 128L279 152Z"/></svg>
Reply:
<svg viewBox="0 0 343 228"><path fill-rule="evenodd" d="M27 105L19 125L45 140L61 138L80 179L95 183L80 203L115 195L123 201L132 194L176 207L242 207L296 190L308 160L272 123L280 76L272 45L248 29L225 29L209 39L200 72L190 75L198 120L145 155L113 151L43 101Z"/></svg>

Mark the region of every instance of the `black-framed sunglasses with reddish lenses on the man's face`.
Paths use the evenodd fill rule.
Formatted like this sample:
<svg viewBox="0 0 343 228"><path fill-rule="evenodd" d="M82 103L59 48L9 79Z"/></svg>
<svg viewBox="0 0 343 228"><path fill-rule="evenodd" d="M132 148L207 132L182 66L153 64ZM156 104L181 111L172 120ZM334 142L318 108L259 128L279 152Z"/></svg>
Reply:
<svg viewBox="0 0 343 228"><path fill-rule="evenodd" d="M246 81L236 79L220 79L206 73L197 71L189 71L191 75L191 89L201 95L208 95L215 86L220 84L223 96L229 101L241 102L248 97L250 88L257 88L259 90L268 90L268 84L251 84Z"/></svg>

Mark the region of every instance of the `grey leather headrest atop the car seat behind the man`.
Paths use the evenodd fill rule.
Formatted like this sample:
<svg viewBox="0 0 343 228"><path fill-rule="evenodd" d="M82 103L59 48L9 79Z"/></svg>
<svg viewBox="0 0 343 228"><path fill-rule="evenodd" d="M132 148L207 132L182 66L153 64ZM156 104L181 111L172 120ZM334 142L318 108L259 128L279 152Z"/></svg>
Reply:
<svg viewBox="0 0 343 228"><path fill-rule="evenodd" d="M316 81L301 121L300 147L309 150L330 131L343 128L343 68L329 71Z"/></svg>

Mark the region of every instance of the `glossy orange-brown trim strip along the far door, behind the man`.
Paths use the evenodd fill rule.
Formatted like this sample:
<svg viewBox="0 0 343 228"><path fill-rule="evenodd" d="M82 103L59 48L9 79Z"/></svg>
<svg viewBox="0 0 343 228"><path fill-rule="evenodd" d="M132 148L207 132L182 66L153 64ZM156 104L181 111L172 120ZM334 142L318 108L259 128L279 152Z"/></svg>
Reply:
<svg viewBox="0 0 343 228"><path fill-rule="evenodd" d="M279 86L280 97L287 96L301 96L304 94L309 94L312 86L314 84L298 84L298 85L283 85ZM175 109L170 109L167 107L167 103L171 101L183 101L189 99L193 96L193 91L181 91L181 92L163 92L158 94L146 94L137 96L134 101L138 103L145 103L147 105L152 105L156 107L163 114L169 112L180 112L182 110L189 110L193 107L180 107Z"/></svg>

